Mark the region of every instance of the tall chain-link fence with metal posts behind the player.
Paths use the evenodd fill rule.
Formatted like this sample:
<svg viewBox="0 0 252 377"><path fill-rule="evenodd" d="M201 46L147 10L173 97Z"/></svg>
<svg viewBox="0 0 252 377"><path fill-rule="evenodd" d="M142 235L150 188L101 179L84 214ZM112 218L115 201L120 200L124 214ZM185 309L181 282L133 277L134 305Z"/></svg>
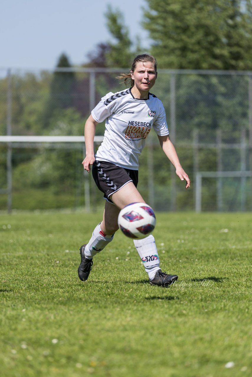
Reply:
<svg viewBox="0 0 252 377"><path fill-rule="evenodd" d="M0 69L0 210L104 205L74 137L100 97L125 88L123 71ZM159 70L152 91L192 184L184 189L151 132L139 168L145 201L162 211L251 211L252 72ZM103 133L97 125L95 148Z"/></svg>

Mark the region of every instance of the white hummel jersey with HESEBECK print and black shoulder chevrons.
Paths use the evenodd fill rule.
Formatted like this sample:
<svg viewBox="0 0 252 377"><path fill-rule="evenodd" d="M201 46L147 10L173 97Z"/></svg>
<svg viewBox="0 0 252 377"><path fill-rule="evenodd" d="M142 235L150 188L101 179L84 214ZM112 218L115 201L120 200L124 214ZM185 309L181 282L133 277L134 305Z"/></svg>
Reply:
<svg viewBox="0 0 252 377"><path fill-rule="evenodd" d="M134 98L130 89L108 93L102 97L91 115L98 123L104 121L104 140L95 159L138 170L139 155L151 128L157 135L168 135L165 110L153 94L147 100Z"/></svg>

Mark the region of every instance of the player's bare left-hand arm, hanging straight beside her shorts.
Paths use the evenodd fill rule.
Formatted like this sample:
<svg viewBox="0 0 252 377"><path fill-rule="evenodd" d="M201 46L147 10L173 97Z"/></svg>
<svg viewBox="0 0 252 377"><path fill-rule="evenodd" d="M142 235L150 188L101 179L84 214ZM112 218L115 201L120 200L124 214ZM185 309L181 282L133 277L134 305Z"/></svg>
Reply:
<svg viewBox="0 0 252 377"><path fill-rule="evenodd" d="M84 135L86 146L86 157L82 161L82 165L89 173L90 165L94 163L94 134L96 129L96 122L92 115L89 116L85 123Z"/></svg>

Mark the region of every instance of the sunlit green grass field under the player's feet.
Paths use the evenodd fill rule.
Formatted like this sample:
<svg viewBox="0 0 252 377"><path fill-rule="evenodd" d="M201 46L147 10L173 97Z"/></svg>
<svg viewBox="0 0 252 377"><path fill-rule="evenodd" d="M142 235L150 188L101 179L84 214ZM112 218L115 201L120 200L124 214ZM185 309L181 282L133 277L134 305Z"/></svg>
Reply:
<svg viewBox="0 0 252 377"><path fill-rule="evenodd" d="M252 375L251 213L157 213L170 288L120 232L77 276L99 214L1 215L2 377Z"/></svg>

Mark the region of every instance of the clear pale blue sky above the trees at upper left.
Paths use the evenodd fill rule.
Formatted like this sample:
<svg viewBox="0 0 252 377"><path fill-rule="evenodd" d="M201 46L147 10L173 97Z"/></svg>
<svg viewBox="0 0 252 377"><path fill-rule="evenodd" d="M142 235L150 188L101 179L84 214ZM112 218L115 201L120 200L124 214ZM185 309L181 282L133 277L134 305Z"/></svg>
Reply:
<svg viewBox="0 0 252 377"><path fill-rule="evenodd" d="M104 15L108 4L124 14L131 39L140 35L147 47L141 26L145 0L2 0L0 67L53 69L62 52L72 64L86 62L88 52L110 39Z"/></svg>

